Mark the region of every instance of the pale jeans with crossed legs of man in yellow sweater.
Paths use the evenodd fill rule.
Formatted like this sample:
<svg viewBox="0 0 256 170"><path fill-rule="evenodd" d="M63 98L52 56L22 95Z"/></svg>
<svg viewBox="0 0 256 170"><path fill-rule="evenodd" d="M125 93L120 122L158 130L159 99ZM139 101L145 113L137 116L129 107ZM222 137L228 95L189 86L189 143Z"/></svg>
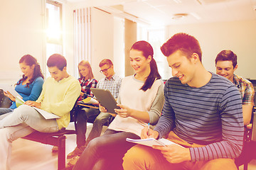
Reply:
<svg viewBox="0 0 256 170"><path fill-rule="evenodd" d="M55 119L46 120L31 106L22 105L0 120L0 169L9 169L11 144L20 137L39 132L57 132Z"/></svg>

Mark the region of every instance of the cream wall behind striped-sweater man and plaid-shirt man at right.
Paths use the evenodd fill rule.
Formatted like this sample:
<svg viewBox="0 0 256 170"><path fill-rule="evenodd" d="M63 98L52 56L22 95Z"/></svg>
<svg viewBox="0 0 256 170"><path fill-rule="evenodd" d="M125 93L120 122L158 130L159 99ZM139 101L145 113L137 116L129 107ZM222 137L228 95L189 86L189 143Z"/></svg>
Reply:
<svg viewBox="0 0 256 170"><path fill-rule="evenodd" d="M203 65L215 72L215 57L221 50L233 50L238 55L235 74L256 79L256 21L234 21L225 23L201 23L169 26L168 38L175 33L193 35L203 51ZM171 71L171 69L170 69ZM171 76L171 72L169 72Z"/></svg>

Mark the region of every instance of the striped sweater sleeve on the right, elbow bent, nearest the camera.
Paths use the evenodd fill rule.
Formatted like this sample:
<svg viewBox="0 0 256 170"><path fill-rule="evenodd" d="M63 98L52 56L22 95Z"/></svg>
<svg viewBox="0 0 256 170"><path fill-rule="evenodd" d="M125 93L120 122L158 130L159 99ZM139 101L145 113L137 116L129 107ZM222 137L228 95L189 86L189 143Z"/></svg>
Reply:
<svg viewBox="0 0 256 170"><path fill-rule="evenodd" d="M234 159L240 155L244 129L241 96L235 86L228 88L223 95L219 111L223 140L205 147L191 147L192 162L220 158Z"/></svg>

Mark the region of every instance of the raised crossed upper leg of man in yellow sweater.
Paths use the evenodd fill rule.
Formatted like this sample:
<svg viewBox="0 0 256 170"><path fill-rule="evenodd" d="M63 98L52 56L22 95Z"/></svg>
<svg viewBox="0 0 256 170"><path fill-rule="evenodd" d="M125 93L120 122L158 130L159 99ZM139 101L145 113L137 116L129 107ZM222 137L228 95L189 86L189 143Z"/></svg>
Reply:
<svg viewBox="0 0 256 170"><path fill-rule="evenodd" d="M21 105L13 113L0 120L0 128L26 123L39 132L57 132L58 124L55 119L46 120L31 106Z"/></svg>

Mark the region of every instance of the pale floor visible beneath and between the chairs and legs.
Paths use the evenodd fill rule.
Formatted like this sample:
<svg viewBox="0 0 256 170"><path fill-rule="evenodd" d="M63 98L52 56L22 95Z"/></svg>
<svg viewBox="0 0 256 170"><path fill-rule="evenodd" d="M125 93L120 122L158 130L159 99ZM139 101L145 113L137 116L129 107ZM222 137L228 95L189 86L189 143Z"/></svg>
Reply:
<svg viewBox="0 0 256 170"><path fill-rule="evenodd" d="M69 129L74 129L73 123L70 123ZM89 134L92 125L87 127L87 135ZM104 127L102 132L106 130ZM75 135L68 135L66 139L65 154L72 152L75 149ZM30 140L18 139L13 142L11 170L56 170L57 169L57 154L52 154L52 146L43 145L39 142ZM242 170L242 166L240 166ZM248 170L256 170L256 160L252 160Z"/></svg>

